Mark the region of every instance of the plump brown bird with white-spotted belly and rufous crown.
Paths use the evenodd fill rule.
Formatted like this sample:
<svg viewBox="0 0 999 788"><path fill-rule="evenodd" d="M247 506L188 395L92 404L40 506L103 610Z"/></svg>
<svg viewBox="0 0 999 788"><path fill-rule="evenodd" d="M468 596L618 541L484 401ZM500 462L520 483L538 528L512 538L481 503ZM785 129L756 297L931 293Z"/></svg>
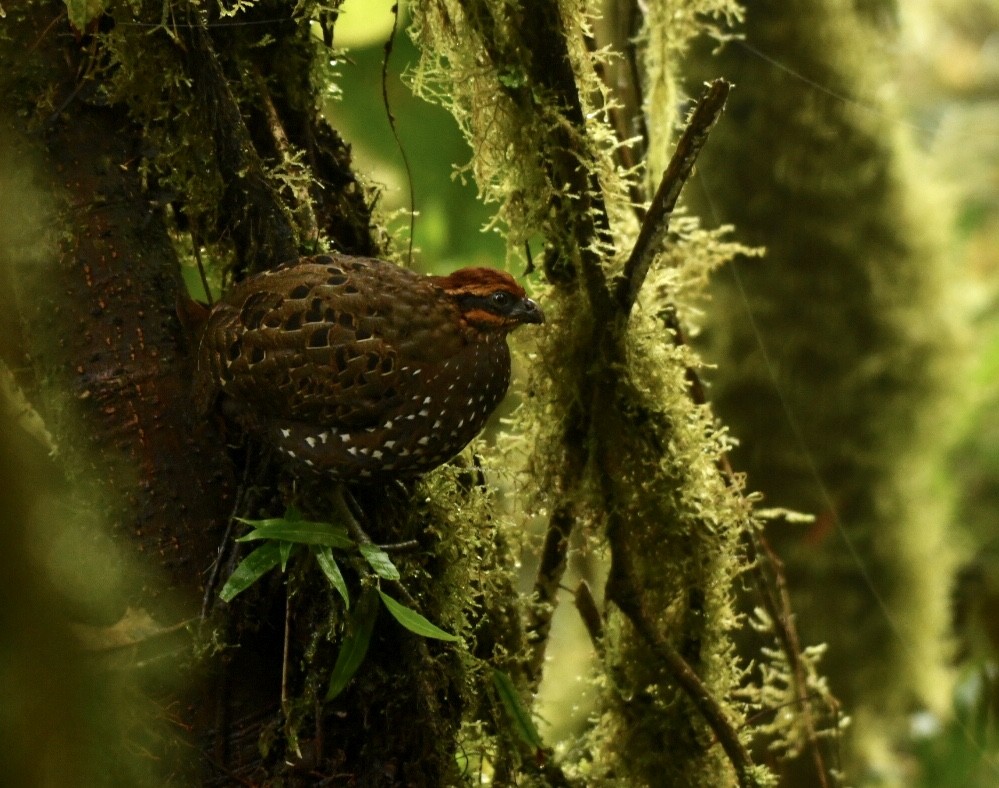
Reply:
<svg viewBox="0 0 999 788"><path fill-rule="evenodd" d="M202 406L340 479L412 476L460 452L510 384L506 337L544 315L502 271L421 276L322 255L235 285L201 333Z"/></svg>

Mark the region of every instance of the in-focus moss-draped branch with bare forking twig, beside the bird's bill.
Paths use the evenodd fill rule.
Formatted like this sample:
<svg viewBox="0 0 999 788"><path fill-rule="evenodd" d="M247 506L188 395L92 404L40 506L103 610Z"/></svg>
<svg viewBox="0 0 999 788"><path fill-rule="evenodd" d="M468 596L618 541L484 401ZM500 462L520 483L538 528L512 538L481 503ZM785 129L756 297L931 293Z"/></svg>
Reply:
<svg viewBox="0 0 999 788"><path fill-rule="evenodd" d="M532 469L550 511L527 623L533 647L526 682L533 686L539 676L569 535L584 524L593 534L592 526L601 525L612 567L627 559L630 569L612 578L606 594L620 600L627 616L611 607L607 626L591 627L603 646L607 690L600 723L577 750L589 779L765 782L765 770L752 765L736 733L744 708L734 691L744 677L732 664L729 640L731 585L745 566L740 539L751 528L749 505L719 470L724 435L689 396L688 369L696 360L664 336L656 319L663 292L682 286L684 275L697 275L697 266L719 253L715 239L696 236L688 223L671 237L682 250L668 252L670 262L687 264L670 271L662 241L724 89L719 83L709 93L709 110L681 145L682 164L668 177L626 268L639 233L634 182L615 165L616 142L601 110L593 47L587 48L588 20L581 4L558 4L557 12L555 4L537 5L534 12L438 2L417 16L426 53L417 85L447 96L472 141L480 189L501 202L511 246L540 232L549 255L558 255L545 268L554 286L546 299L553 327L532 387L536 397L522 414L526 433L537 439ZM544 46L529 45L536 40ZM544 75L538 63L546 64ZM620 302L606 290L615 272L621 277L615 281L624 282L615 285L624 294ZM635 303L631 320L624 319ZM718 741L723 747L712 746ZM665 750L663 742L670 744Z"/></svg>

